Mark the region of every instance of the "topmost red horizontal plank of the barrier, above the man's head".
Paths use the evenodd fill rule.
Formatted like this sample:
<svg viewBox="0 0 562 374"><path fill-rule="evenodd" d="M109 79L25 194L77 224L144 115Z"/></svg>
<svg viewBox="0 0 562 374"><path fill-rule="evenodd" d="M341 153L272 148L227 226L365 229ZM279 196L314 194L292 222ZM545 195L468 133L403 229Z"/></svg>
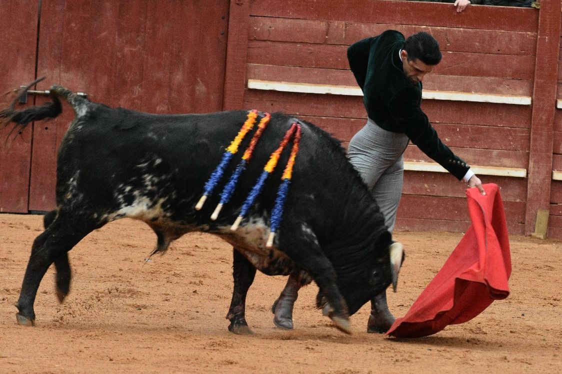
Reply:
<svg viewBox="0 0 562 374"><path fill-rule="evenodd" d="M332 2L262 0L252 3L252 15L305 20L373 22L420 26L534 32L538 11L514 7L471 7L457 13L451 4L384 0Z"/></svg>

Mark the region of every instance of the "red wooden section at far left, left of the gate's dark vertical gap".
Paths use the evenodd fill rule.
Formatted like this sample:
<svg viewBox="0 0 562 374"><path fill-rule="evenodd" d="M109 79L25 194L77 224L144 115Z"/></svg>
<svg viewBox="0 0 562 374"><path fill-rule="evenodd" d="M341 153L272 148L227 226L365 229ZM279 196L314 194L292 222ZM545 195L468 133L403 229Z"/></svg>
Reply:
<svg viewBox="0 0 562 374"><path fill-rule="evenodd" d="M38 3L0 2L0 14L7 21L0 43L0 94L19 88L35 79L35 45L37 44ZM0 98L0 108L13 97ZM33 103L33 98L30 98ZM6 141L12 126L0 129L0 212L28 212L31 134L29 126Z"/></svg>

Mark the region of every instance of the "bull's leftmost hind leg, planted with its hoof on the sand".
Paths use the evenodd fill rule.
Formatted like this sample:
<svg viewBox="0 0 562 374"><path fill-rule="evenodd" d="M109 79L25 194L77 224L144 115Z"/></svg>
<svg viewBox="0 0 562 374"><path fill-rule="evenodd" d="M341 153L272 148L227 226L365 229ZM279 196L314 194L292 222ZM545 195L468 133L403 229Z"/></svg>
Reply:
<svg viewBox="0 0 562 374"><path fill-rule="evenodd" d="M65 256L74 245L95 228L96 225L93 222L83 221L80 220L80 217L70 217L60 213L47 229L35 238L28 266L25 270L24 281L21 285L20 298L16 303L19 311L16 318L19 325L35 325L33 304L39 284L49 266L61 256ZM70 267L66 270L66 265L62 262L64 262L64 257L59 264L62 273L70 272Z"/></svg>

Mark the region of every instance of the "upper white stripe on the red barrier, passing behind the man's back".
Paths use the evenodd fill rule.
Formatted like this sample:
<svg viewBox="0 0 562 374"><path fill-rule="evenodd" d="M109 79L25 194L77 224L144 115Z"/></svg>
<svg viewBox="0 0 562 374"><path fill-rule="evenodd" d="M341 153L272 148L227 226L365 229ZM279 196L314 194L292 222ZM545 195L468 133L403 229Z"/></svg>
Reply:
<svg viewBox="0 0 562 374"><path fill-rule="evenodd" d="M259 79L248 79L248 88L256 89L256 90L271 90L271 91L298 92L298 93L332 94L332 95L348 95L348 96L363 95L361 89L356 86L278 82L278 81L259 80ZM497 95L497 94L483 94L483 93L472 93L472 92L423 90L422 98L433 99L433 100L473 101L473 102L481 102L481 103L531 105L530 96Z"/></svg>

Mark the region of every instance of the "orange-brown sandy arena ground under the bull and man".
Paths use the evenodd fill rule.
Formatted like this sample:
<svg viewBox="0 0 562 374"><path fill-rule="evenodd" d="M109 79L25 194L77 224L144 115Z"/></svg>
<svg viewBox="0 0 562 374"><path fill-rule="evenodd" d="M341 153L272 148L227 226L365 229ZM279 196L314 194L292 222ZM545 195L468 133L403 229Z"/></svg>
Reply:
<svg viewBox="0 0 562 374"><path fill-rule="evenodd" d="M300 293L295 329L277 329L270 308L285 279L261 273L247 300L255 334L238 336L225 320L232 248L188 234L145 263L156 236L133 220L112 222L71 250L74 281L63 304L49 269L35 301L37 326L17 326L13 303L41 231L41 216L0 215L0 373L562 372L560 241L512 236L510 296L433 336L367 334L368 305L345 335L315 309L315 285ZM461 234L395 237L407 258L389 307L403 316Z"/></svg>

